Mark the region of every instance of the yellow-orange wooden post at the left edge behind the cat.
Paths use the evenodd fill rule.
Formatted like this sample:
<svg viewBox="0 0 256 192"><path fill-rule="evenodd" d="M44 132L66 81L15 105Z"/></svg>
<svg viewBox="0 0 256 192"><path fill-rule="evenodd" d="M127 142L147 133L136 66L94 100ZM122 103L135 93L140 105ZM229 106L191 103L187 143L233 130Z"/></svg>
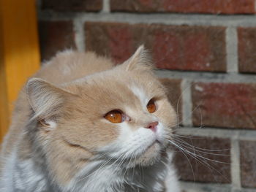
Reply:
<svg viewBox="0 0 256 192"><path fill-rule="evenodd" d="M1 41L9 115L27 78L39 69L36 1L0 0ZM3 76L3 75L1 75ZM1 126L1 133L7 127ZM3 134L1 134L3 137Z"/></svg>

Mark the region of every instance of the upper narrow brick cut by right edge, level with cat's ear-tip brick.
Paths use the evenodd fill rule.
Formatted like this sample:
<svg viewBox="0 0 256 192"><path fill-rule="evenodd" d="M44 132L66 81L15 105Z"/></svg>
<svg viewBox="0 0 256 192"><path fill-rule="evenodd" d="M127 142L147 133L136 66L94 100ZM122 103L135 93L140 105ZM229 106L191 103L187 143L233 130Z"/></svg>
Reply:
<svg viewBox="0 0 256 192"><path fill-rule="evenodd" d="M238 28L239 72L256 72L256 28Z"/></svg>

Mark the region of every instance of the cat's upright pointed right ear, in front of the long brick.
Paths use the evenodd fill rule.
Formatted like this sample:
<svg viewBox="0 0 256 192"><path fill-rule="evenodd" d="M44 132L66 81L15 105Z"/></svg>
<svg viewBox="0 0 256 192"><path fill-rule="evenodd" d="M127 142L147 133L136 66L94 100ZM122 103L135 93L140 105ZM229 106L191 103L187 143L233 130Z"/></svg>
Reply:
<svg viewBox="0 0 256 192"><path fill-rule="evenodd" d="M144 45L138 47L135 53L124 62L124 66L126 66L127 71L153 69L151 56L148 54L148 51L145 50Z"/></svg>

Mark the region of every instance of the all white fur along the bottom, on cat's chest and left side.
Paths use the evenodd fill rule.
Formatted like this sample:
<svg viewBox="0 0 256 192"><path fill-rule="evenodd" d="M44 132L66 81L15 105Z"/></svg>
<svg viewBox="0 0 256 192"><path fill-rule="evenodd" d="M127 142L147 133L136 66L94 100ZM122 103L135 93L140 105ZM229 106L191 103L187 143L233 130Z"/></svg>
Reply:
<svg viewBox="0 0 256 192"><path fill-rule="evenodd" d="M59 191L50 188L49 178L42 172L42 167L35 166L32 160L18 161L15 151L6 160L0 191ZM166 192L179 192L175 170L170 165L159 163L148 168L138 166L124 170L116 165L99 166L92 163L69 185L62 186L61 191L162 192L163 188Z"/></svg>

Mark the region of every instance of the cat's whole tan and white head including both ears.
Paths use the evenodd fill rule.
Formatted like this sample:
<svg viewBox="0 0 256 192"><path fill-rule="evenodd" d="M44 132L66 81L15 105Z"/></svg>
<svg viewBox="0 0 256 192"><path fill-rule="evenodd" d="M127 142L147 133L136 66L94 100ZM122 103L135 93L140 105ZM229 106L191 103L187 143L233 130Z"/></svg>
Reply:
<svg viewBox="0 0 256 192"><path fill-rule="evenodd" d="M139 47L124 64L65 85L29 80L35 139L49 164L79 167L94 158L129 166L159 161L176 126L176 112L152 68Z"/></svg>

